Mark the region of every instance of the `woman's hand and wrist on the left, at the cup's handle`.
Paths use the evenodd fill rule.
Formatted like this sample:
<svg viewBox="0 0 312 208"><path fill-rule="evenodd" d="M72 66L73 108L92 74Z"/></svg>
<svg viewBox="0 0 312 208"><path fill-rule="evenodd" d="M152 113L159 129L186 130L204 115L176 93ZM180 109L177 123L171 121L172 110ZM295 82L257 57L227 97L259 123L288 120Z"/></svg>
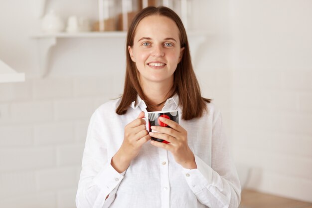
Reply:
<svg viewBox="0 0 312 208"><path fill-rule="evenodd" d="M151 140L144 116L142 111L137 119L125 127L123 144L111 161L111 165L119 173L127 170L131 161L139 154L142 145Z"/></svg>

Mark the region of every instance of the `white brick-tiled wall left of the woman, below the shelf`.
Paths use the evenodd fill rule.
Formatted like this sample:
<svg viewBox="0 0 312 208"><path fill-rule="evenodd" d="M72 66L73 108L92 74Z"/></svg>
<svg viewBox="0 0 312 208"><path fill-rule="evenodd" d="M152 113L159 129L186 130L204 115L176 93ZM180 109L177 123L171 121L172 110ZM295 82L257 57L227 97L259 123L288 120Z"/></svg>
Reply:
<svg viewBox="0 0 312 208"><path fill-rule="evenodd" d="M1 208L75 207L89 119L113 97L108 81L51 77L0 85Z"/></svg>

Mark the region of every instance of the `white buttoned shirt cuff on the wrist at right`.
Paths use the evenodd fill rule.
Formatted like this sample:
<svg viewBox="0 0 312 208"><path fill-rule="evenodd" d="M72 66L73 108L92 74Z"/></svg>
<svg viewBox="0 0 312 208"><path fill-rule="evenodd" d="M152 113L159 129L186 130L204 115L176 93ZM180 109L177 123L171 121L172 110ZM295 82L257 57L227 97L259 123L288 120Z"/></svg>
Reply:
<svg viewBox="0 0 312 208"><path fill-rule="evenodd" d="M199 192L212 183L212 168L195 155L197 169L185 169L182 173L193 193Z"/></svg>

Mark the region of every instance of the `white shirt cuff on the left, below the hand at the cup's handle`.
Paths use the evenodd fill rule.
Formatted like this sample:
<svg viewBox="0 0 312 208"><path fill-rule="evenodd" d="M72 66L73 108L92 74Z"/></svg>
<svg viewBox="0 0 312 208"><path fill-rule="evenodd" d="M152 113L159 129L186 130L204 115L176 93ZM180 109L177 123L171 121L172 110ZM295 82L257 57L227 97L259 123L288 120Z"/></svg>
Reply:
<svg viewBox="0 0 312 208"><path fill-rule="evenodd" d="M94 177L94 183L100 187L101 190L106 190L111 193L123 180L126 171L118 173L111 165L111 160L106 166Z"/></svg>

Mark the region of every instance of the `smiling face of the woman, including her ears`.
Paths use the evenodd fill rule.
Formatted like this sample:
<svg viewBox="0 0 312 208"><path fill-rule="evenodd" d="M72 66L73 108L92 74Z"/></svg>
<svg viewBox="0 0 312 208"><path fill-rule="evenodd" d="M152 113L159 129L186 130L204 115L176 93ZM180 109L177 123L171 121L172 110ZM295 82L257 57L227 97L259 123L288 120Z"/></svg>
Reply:
<svg viewBox="0 0 312 208"><path fill-rule="evenodd" d="M143 84L170 84L184 47L180 47L179 30L172 19L151 15L139 22L134 44L128 49Z"/></svg>

